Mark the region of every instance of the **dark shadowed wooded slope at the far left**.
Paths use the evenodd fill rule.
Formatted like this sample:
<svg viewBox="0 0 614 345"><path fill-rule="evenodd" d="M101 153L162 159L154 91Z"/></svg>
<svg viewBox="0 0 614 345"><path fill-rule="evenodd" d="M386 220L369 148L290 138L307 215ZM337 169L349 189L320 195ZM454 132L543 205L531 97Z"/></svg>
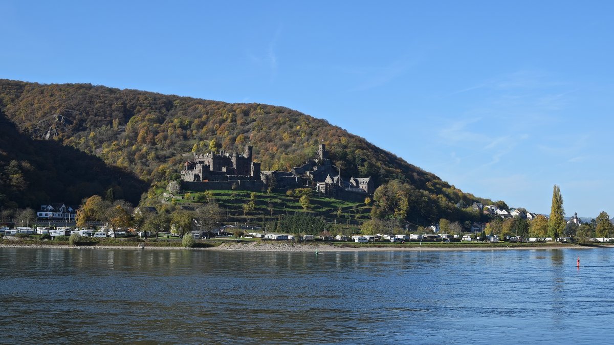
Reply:
<svg viewBox="0 0 614 345"><path fill-rule="evenodd" d="M79 204L85 196L105 195L109 189L117 198L138 203L147 184L98 157L24 136L0 110L0 206Z"/></svg>

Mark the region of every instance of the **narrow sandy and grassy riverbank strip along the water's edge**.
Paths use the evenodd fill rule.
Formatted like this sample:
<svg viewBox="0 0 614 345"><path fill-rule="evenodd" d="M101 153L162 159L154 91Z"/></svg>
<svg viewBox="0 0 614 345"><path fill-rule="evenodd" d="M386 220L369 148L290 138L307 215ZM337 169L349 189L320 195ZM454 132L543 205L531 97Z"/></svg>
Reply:
<svg viewBox="0 0 614 345"><path fill-rule="evenodd" d="M602 246L610 247L610 246ZM126 250L219 250L219 251L247 251L247 252L446 252L459 250L527 250L527 249L591 249L586 246L540 246L540 247L338 247L330 244L291 244L280 242L249 242L225 243L217 247L185 248L185 247L137 247L137 246L69 246L52 244L0 244L1 248L58 248L58 249L126 249Z"/></svg>

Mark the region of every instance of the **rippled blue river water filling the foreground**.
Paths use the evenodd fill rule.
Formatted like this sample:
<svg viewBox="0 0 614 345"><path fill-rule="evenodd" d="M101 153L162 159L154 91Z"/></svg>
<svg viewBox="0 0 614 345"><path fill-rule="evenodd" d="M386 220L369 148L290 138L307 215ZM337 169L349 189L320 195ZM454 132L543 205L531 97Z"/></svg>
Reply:
<svg viewBox="0 0 614 345"><path fill-rule="evenodd" d="M613 249L0 249L0 342L610 343L613 263Z"/></svg>

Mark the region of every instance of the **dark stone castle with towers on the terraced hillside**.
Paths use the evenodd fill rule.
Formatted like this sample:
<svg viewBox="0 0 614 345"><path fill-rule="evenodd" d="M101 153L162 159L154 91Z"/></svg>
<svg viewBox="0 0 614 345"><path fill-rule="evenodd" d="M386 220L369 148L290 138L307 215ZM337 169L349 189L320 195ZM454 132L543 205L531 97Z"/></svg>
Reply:
<svg viewBox="0 0 614 345"><path fill-rule="evenodd" d="M325 144L320 144L317 157L301 166L286 171L260 171L260 163L252 161L252 146L244 153L220 152L194 155L181 171L182 188L185 190L252 190L266 188L288 190L312 187L316 192L333 198L364 201L375 191L371 177L343 179L341 169L332 165ZM206 183L203 183L206 182Z"/></svg>

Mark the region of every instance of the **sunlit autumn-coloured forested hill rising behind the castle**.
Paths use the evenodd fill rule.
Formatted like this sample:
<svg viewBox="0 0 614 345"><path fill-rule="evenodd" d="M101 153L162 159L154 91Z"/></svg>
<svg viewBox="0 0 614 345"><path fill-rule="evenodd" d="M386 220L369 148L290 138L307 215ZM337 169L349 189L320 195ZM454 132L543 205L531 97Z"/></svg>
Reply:
<svg viewBox="0 0 614 345"><path fill-rule="evenodd" d="M212 144L240 152L249 142L263 170L287 170L325 143L344 176L371 176L376 185L398 179L440 206L476 200L363 138L286 107L0 79L0 110L29 138L96 155L147 182L172 179L185 153L207 152Z"/></svg>

